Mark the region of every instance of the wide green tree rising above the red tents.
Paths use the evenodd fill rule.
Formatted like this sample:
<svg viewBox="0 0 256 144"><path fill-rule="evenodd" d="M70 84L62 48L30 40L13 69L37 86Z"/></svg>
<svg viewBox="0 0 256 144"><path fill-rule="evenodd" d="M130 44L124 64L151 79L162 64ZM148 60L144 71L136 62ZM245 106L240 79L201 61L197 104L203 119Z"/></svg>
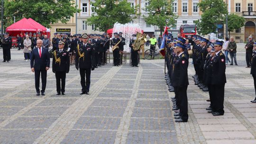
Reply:
<svg viewBox="0 0 256 144"><path fill-rule="evenodd" d="M22 18L33 18L41 25L50 27L50 24L62 22L66 23L75 12L74 0L5 0L4 15L6 16L6 26Z"/></svg>

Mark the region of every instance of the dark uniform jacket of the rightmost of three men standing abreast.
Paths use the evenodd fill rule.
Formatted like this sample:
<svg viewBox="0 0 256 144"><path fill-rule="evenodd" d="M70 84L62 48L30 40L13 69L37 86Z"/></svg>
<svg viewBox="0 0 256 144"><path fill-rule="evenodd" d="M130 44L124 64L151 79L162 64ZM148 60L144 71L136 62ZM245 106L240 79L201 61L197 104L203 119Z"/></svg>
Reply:
<svg viewBox="0 0 256 144"><path fill-rule="evenodd" d="M76 48L75 66L79 66L80 69L89 69L91 66L95 65L93 46L89 43L87 43L86 47L83 46L83 43L77 46L78 48ZM84 53L84 57L79 58L78 50L81 54Z"/></svg>

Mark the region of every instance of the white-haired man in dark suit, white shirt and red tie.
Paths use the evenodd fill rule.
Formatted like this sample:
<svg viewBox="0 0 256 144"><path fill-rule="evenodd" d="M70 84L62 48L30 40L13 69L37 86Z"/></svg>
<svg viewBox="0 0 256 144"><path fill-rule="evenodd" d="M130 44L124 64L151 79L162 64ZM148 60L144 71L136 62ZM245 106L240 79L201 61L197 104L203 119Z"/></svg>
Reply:
<svg viewBox="0 0 256 144"><path fill-rule="evenodd" d="M42 79L41 94L45 95L46 76L47 76L47 71L50 68L50 55L48 53L48 49L44 48L42 45L43 45L43 41L41 39L38 39L37 47L32 50L31 61L30 61L31 71L35 72L35 86L37 90L37 96L40 95L40 90L39 90L40 73L41 73L41 79Z"/></svg>

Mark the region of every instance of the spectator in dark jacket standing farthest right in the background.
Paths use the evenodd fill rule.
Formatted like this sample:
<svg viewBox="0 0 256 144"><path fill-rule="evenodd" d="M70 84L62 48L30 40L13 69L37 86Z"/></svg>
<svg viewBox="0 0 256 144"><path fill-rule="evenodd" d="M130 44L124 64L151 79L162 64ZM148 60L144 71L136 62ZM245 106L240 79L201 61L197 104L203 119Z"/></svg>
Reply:
<svg viewBox="0 0 256 144"><path fill-rule="evenodd" d="M247 67L246 68L249 68L251 67L251 63L252 63L252 52L253 52L253 37L252 35L250 35L248 37L248 42L246 43L246 46L245 46L245 49L246 49L246 63L247 63Z"/></svg>

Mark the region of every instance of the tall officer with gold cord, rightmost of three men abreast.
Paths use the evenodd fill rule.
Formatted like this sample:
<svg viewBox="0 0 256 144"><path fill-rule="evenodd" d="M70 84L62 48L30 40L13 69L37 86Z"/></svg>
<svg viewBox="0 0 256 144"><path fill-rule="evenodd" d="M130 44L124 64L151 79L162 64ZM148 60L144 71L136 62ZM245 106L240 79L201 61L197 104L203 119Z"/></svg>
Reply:
<svg viewBox="0 0 256 144"><path fill-rule="evenodd" d="M94 70L94 49L91 44L88 43L88 36L82 35L82 43L77 45L75 55L75 68L80 69L82 93L89 95L91 84L91 71ZM85 81L86 76L86 81Z"/></svg>

